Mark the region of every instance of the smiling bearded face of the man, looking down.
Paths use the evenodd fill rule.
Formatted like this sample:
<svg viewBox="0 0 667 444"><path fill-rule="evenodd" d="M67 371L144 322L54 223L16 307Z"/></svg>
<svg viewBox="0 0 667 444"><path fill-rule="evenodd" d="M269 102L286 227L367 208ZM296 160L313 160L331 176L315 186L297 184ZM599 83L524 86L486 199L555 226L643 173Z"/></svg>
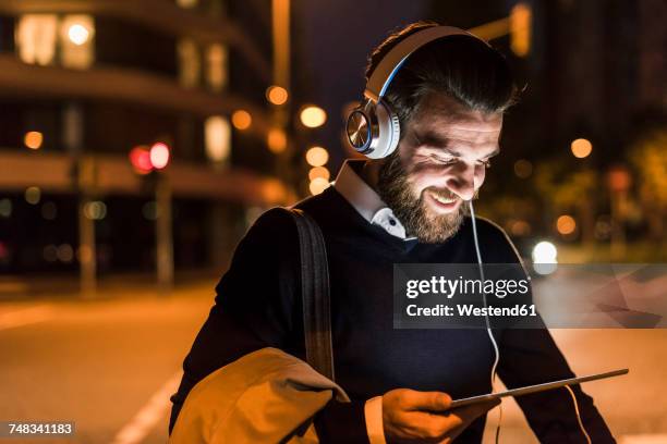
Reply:
<svg viewBox="0 0 667 444"><path fill-rule="evenodd" d="M441 94L424 96L378 177L380 197L409 235L439 243L457 232L466 200L498 153L501 127L502 113L473 111Z"/></svg>

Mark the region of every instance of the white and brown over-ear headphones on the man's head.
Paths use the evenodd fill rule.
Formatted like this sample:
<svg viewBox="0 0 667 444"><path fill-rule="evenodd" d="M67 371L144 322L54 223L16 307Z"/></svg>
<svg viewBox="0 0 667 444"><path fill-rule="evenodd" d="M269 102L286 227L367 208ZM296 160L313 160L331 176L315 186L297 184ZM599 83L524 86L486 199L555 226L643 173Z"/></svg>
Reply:
<svg viewBox="0 0 667 444"><path fill-rule="evenodd" d="M389 103L383 100L391 79L411 53L433 40L456 35L478 39L453 26L432 26L411 34L387 52L371 73L364 102L348 115L345 133L354 150L369 159L383 159L396 150L401 125Z"/></svg>

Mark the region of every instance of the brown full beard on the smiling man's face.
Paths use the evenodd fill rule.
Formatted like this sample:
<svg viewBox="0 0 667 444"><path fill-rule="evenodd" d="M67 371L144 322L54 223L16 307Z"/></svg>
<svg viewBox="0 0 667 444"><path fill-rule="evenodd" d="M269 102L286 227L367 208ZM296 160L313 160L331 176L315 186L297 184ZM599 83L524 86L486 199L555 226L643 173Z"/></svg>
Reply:
<svg viewBox="0 0 667 444"><path fill-rule="evenodd" d="M429 186L422 189L419 198L415 197L398 150L381 165L377 187L381 199L405 227L405 234L424 244L447 240L459 231L463 218L470 213L468 205L459 205L457 211L448 214L438 214L429 208L424 199L427 192L445 199L459 199L447 188Z"/></svg>

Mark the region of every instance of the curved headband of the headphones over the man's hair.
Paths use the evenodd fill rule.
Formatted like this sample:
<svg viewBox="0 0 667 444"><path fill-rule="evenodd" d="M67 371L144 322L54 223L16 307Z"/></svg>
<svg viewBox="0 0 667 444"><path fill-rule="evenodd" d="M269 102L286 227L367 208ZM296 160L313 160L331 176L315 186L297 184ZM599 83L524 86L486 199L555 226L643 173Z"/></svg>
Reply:
<svg viewBox="0 0 667 444"><path fill-rule="evenodd" d="M405 37L391 48L389 52L383 57L383 60L380 60L375 70L373 70L368 83L366 84L364 96L368 100L373 100L377 103L387 91L398 70L411 53L433 40L456 35L469 36L480 40L478 37L453 26L427 27Z"/></svg>

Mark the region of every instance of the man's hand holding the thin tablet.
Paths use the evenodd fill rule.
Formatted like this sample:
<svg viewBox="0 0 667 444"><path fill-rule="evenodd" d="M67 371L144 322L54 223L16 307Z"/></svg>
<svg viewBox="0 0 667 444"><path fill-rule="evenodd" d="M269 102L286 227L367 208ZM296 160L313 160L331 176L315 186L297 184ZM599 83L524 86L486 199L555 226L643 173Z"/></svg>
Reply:
<svg viewBox="0 0 667 444"><path fill-rule="evenodd" d="M392 390L383 396L385 437L389 443L451 443L498 404L495 399L450 410L451 397L446 393Z"/></svg>

